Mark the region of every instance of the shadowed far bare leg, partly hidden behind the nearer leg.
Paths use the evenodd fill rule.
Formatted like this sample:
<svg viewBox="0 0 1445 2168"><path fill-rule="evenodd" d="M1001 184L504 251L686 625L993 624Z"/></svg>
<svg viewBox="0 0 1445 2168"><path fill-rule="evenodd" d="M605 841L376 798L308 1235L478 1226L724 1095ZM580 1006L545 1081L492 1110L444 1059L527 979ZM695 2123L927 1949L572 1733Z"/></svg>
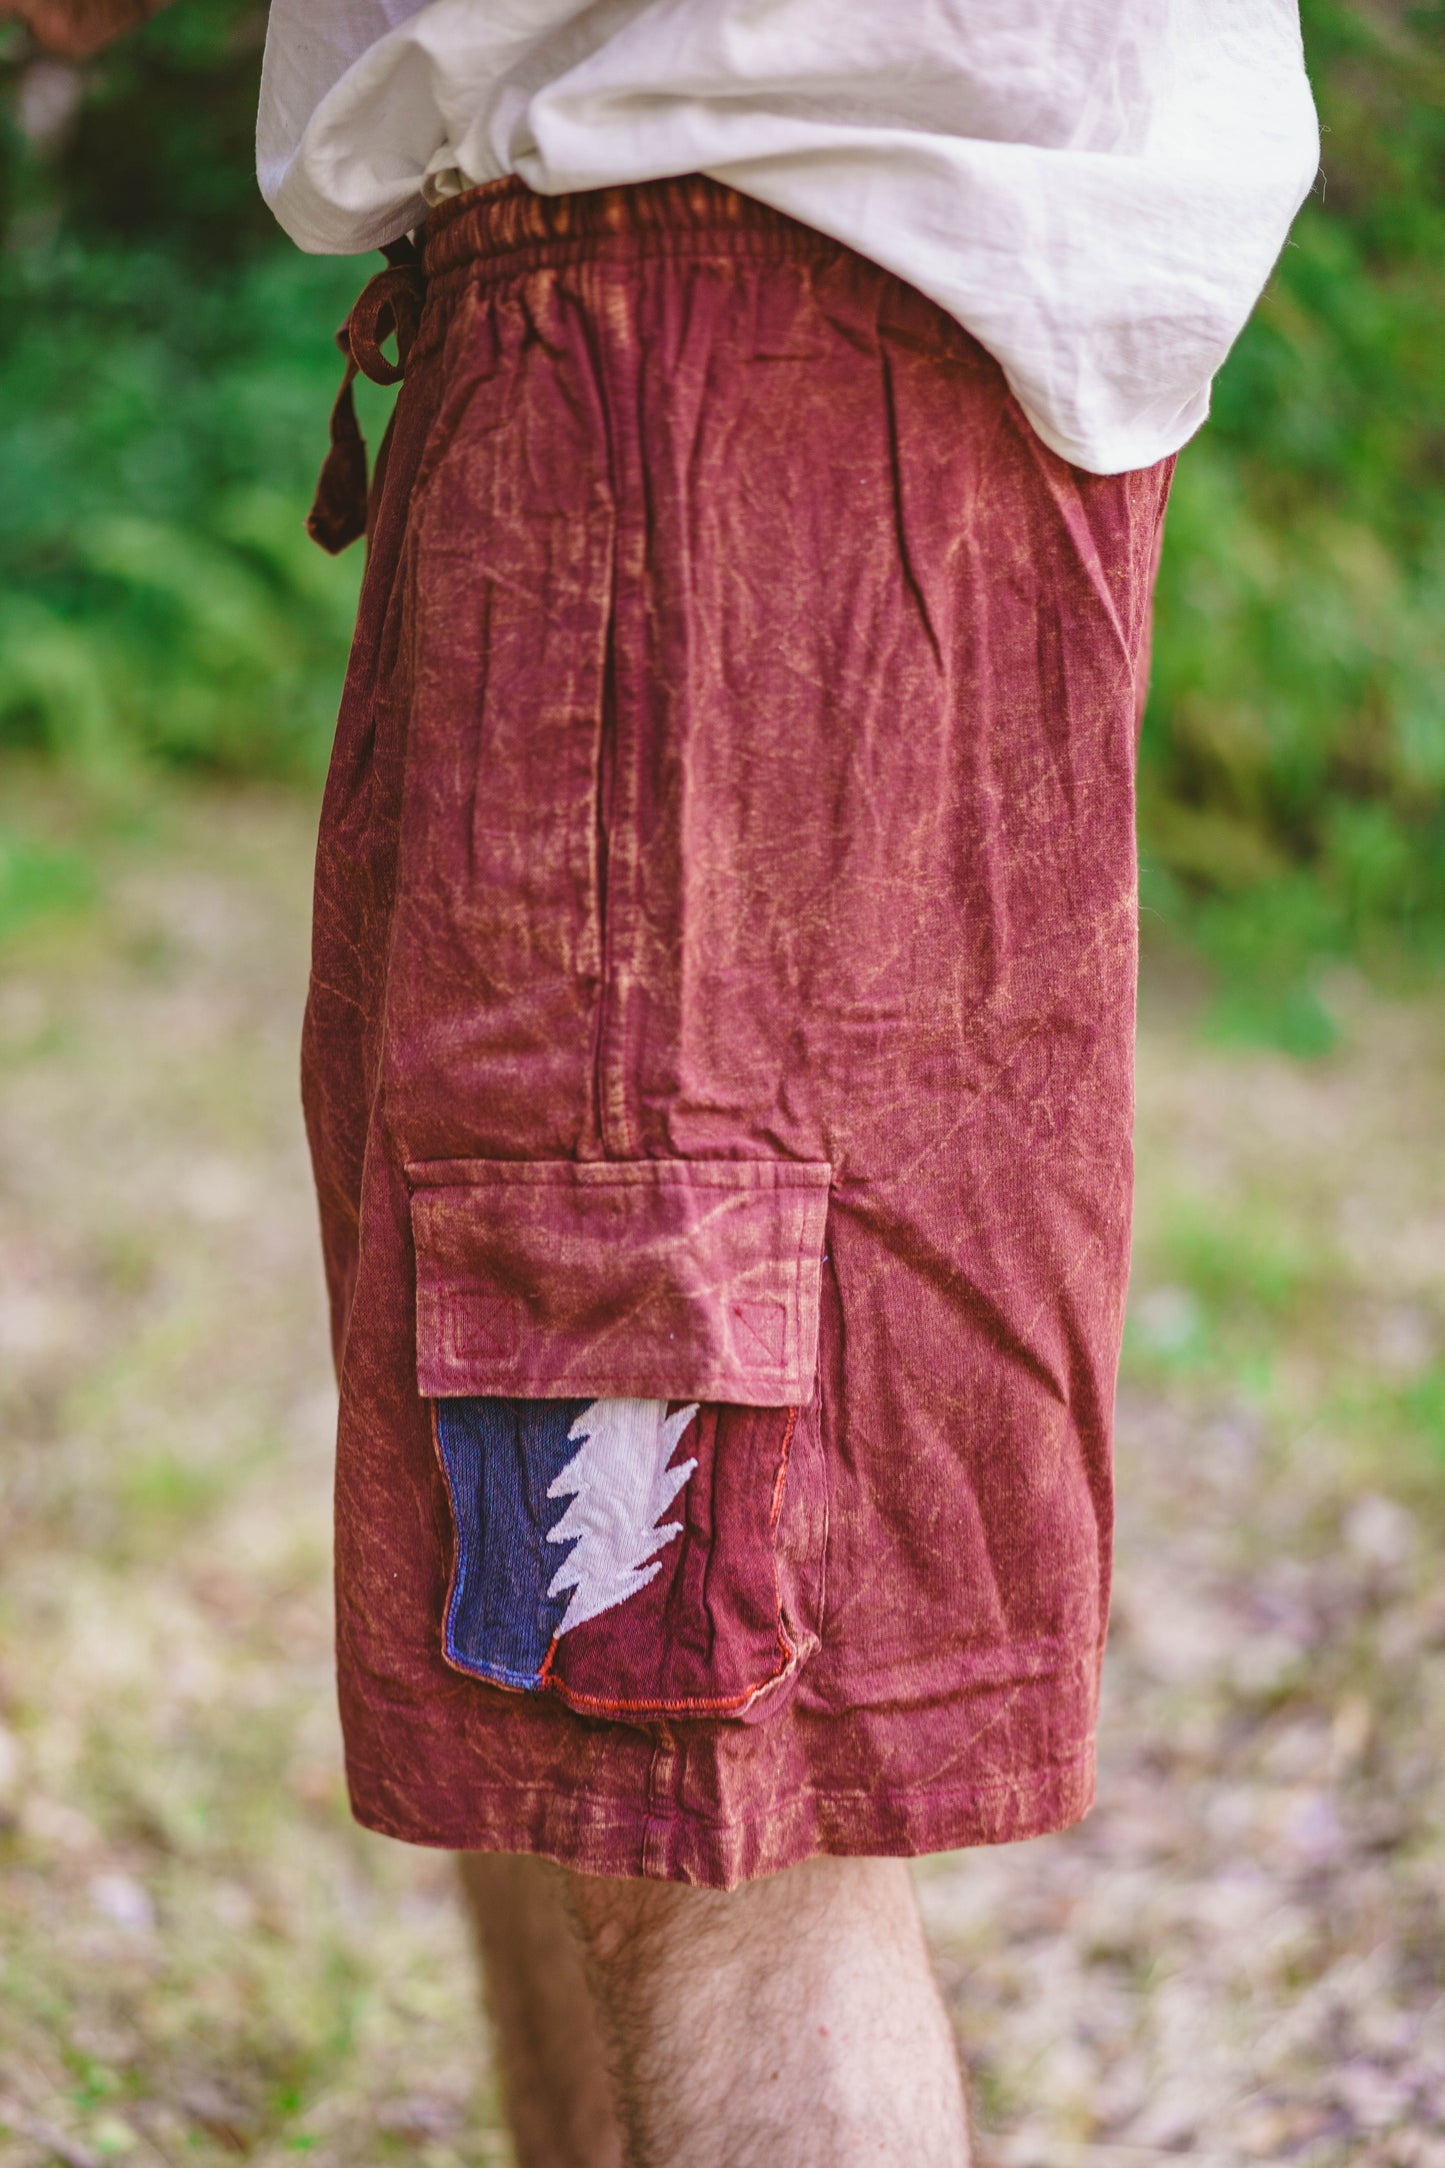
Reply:
<svg viewBox="0 0 1445 2168"><path fill-rule="evenodd" d="M565 1901L576 1875L503 1851L464 1851L457 1864L518 2168L622 2168L602 2031Z"/></svg>

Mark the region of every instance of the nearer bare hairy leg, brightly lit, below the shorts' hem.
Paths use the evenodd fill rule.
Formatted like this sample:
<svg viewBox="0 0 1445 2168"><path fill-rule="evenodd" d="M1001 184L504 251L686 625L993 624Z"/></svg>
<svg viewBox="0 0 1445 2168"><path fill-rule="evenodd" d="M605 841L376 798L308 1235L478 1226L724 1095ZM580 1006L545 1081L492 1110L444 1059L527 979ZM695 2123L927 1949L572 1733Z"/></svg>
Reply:
<svg viewBox="0 0 1445 2168"><path fill-rule="evenodd" d="M899 1860L721 1895L568 1875L630 2168L966 2168L949 2018Z"/></svg>

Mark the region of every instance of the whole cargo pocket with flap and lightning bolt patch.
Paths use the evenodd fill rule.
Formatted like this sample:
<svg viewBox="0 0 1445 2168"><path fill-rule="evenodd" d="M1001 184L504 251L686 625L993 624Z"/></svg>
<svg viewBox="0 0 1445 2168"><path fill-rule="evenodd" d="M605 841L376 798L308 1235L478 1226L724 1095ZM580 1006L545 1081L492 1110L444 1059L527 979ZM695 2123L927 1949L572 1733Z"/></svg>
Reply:
<svg viewBox="0 0 1445 2168"><path fill-rule="evenodd" d="M453 1511L446 1661L611 1717L760 1719L817 1646L830 1169L407 1169Z"/></svg>

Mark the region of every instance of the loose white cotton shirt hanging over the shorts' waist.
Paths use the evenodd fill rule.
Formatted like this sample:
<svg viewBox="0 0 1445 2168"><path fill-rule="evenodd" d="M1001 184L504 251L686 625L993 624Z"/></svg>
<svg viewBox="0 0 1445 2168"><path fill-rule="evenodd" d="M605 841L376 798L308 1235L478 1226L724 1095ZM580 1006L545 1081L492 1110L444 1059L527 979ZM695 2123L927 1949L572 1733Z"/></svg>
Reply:
<svg viewBox="0 0 1445 2168"><path fill-rule="evenodd" d="M1198 429L1317 156L1296 0L273 0L258 124L321 251L505 173L713 173L932 295L1094 473Z"/></svg>

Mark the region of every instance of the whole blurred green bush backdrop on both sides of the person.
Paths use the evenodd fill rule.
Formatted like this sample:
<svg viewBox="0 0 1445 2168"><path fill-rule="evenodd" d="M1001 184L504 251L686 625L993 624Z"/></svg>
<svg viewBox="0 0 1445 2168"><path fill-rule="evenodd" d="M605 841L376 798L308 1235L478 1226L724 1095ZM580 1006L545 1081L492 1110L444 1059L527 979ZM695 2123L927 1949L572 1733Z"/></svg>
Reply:
<svg viewBox="0 0 1445 2168"><path fill-rule="evenodd" d="M1326 180L1181 460L1140 778L1146 904L1300 1047L1315 958L1445 930L1445 4L1304 26ZM262 30L0 50L0 744L91 772L325 759L357 557L299 522L368 267L256 197Z"/></svg>

